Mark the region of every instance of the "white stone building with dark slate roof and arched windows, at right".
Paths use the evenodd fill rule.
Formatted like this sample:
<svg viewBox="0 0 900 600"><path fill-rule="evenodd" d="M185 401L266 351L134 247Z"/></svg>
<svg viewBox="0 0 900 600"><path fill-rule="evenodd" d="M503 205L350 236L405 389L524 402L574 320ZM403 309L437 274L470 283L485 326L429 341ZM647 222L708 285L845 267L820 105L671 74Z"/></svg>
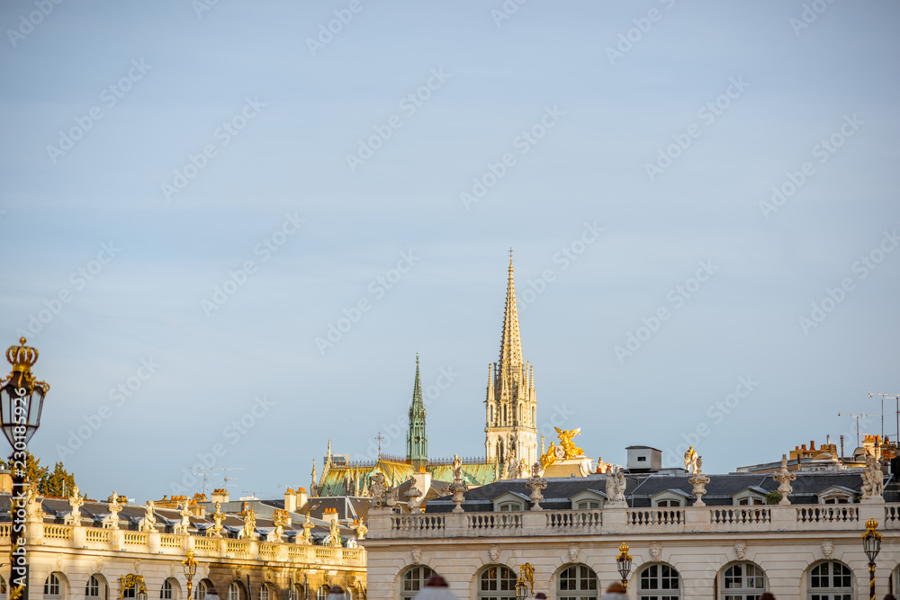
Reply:
<svg viewBox="0 0 900 600"><path fill-rule="evenodd" d="M616 559L626 543L631 598L862 599L869 570L860 535L870 518L884 536L878 597L898 588L900 494L889 479L885 502L861 487L860 471L799 474L791 504L774 505L767 501L781 484L771 473L709 476L699 498L685 470L625 479L624 501L611 499L618 492L607 475L593 474L498 481L468 490L458 507L450 497L431 501L422 514L370 508L369 597L411 598L434 572L461 598L511 599L527 564L532 593L592 600L621 579ZM536 480L543 492L527 486Z"/></svg>

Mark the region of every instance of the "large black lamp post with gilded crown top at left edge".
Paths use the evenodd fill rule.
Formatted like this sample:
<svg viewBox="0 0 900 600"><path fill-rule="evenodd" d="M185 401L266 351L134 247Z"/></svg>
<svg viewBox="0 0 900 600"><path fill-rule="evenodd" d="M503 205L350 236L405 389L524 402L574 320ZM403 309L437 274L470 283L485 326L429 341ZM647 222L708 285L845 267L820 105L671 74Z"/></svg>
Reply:
<svg viewBox="0 0 900 600"><path fill-rule="evenodd" d="M40 426L40 411L44 407L44 396L50 387L43 381L35 381L31 365L38 360L38 351L25 345L25 338L19 345L6 350L6 360L13 365L9 377L0 380L0 425L6 439L13 446L10 466L13 470L13 495L10 516L13 526L9 544L9 598L28 600L28 559L25 556L25 457L28 441Z"/></svg>

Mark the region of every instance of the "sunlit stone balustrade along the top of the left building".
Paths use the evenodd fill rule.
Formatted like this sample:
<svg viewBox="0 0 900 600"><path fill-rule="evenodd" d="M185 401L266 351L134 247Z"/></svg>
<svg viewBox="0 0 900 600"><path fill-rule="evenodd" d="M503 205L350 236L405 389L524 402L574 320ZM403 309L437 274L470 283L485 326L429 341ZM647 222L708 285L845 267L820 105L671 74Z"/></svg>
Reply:
<svg viewBox="0 0 900 600"><path fill-rule="evenodd" d="M0 546L9 545L10 524L0 524ZM365 568L365 549L314 546L303 543L260 542L249 539L202 537L159 532L135 532L79 525L32 522L26 540L43 549L74 548L127 551L183 557L193 550L197 558L263 560L296 563L291 567L333 565Z"/></svg>

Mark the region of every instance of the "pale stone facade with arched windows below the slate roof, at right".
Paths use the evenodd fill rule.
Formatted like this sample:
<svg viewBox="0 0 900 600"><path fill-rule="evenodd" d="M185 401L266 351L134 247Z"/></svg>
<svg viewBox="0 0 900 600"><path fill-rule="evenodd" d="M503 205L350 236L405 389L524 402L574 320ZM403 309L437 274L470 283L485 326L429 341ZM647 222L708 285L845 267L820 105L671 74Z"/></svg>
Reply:
<svg viewBox="0 0 900 600"><path fill-rule="evenodd" d="M596 483L586 488L590 486ZM487 495L485 488L476 491ZM508 494L501 494L497 502ZM616 558L624 542L634 557L628 578L631 598L711 600L725 598L730 587L727 596L734 598L770 591L779 600L846 594L861 600L869 597L868 559L860 539L869 518L878 521L884 536L877 560L878 597L887 594L889 586L896 587L900 503L885 503L883 498L836 505L608 504L581 510L535 510L526 504L524 510L512 512L467 505L464 512L443 512L438 506L440 512L423 515L370 511L369 537L364 542L369 551L369 598L404 597L404 578L417 565L442 575L461 598L513 598L515 589L504 591L502 576L508 576L509 587L526 563L534 568L532 593L544 592L551 600L599 598L602 589L620 580ZM830 584L840 579L849 587L822 587L825 569ZM576 589L580 585L578 578L566 579L572 573L589 574L594 589L561 589L572 581ZM500 587L482 592L482 578L492 574L500 578ZM738 574L743 587L752 587L744 591L734 587ZM675 589L641 589L649 586L646 582L663 579L674 582Z"/></svg>

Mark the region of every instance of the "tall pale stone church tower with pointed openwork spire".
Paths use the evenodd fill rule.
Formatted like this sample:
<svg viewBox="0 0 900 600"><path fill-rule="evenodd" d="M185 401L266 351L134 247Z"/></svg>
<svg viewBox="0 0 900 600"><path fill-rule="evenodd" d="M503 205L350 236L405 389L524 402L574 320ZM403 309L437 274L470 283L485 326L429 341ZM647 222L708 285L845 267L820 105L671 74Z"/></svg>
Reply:
<svg viewBox="0 0 900 600"><path fill-rule="evenodd" d="M522 358L511 254L500 362L488 367L488 396L484 404L486 461L502 463L515 455L517 460L524 459L530 467L540 458L537 449L535 368Z"/></svg>

